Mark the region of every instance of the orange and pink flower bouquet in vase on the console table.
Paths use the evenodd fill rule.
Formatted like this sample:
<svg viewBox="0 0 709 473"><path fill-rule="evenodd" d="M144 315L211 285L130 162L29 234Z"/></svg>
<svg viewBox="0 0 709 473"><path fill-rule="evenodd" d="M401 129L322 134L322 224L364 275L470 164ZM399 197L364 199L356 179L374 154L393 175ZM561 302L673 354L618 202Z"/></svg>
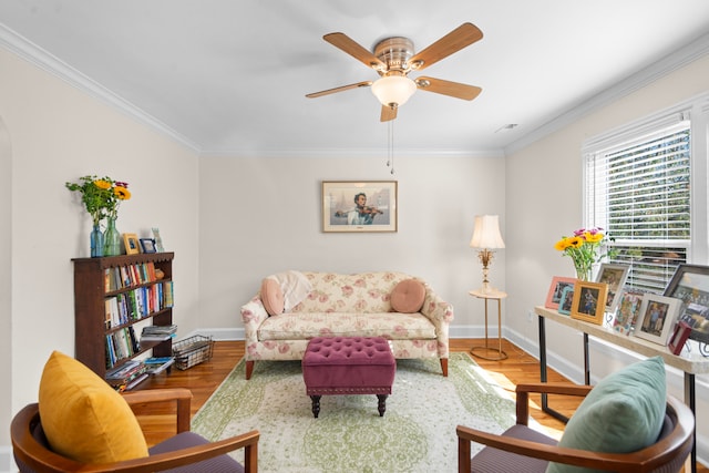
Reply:
<svg viewBox="0 0 709 473"><path fill-rule="evenodd" d="M577 279L589 281L593 266L599 263L603 257L612 256L613 251L602 254L606 240L613 240L610 237L606 239L607 235L603 232L600 227L579 228L574 232L573 236L562 237L554 244L554 248L562 251L562 256L568 256L574 261Z"/></svg>

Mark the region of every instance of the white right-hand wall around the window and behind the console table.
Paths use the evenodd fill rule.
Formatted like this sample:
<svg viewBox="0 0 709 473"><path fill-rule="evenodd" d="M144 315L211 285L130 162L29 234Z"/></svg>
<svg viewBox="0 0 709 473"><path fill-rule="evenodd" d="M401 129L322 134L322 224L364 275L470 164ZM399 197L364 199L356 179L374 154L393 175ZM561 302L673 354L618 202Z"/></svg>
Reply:
<svg viewBox="0 0 709 473"><path fill-rule="evenodd" d="M511 295L505 326L511 336L518 337L521 345L536 347L536 318L528 321L527 312L544 304L552 277L574 275L572 261L561 257L553 245L583 224L582 142L707 92L708 86L709 58L705 56L507 156L505 273ZM547 323L546 331L547 349L556 368L583 381L582 336L555 323ZM631 361L599 343L592 343L590 350L595 379ZM670 388L681 399L681 384ZM697 394L698 419L706 419L709 415L707 385L698 385ZM707 455L709 426L699 422L698 433L700 452L703 450Z"/></svg>

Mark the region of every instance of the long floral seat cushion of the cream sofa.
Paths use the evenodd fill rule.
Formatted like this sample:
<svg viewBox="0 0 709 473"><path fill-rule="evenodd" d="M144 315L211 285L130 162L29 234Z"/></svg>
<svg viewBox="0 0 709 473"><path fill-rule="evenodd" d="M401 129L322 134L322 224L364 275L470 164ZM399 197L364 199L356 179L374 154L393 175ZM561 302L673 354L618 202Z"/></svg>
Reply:
<svg viewBox="0 0 709 473"><path fill-rule="evenodd" d="M390 340L435 339L435 327L421 313L286 312L269 317L258 339L305 340L314 337L384 337Z"/></svg>

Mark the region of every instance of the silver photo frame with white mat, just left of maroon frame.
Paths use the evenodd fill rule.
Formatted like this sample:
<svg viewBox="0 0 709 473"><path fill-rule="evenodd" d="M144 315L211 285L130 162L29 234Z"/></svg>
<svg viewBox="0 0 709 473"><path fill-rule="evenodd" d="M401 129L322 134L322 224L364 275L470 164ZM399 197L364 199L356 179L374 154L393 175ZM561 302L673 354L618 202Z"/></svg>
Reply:
<svg viewBox="0 0 709 473"><path fill-rule="evenodd" d="M667 345L681 300L674 297L646 294L633 335L658 345Z"/></svg>

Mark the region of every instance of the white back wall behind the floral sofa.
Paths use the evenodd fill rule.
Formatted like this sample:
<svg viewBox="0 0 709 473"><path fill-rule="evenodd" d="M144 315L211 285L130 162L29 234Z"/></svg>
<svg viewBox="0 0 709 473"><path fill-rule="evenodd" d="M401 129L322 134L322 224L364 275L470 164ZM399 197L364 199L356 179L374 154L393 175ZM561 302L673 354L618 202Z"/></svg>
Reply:
<svg viewBox="0 0 709 473"><path fill-rule="evenodd" d="M382 156L386 151L382 150ZM475 214L500 214L504 160L397 157L202 157L199 295L203 328L242 329L239 307L269 274L287 269L400 270L424 278L453 304L456 326L480 325L481 266L469 243ZM399 230L322 233L322 181L397 181ZM505 251L491 269L504 287Z"/></svg>

